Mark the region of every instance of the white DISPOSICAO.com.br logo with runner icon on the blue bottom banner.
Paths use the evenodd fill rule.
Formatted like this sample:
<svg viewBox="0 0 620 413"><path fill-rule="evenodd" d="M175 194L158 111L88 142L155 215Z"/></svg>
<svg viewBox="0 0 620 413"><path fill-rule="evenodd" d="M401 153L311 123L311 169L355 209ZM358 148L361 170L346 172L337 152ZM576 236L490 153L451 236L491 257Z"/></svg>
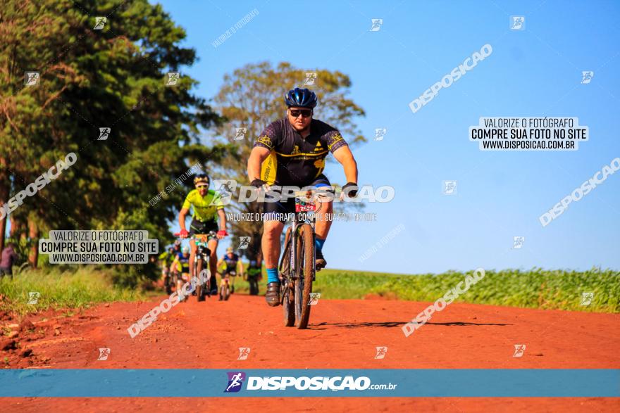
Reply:
<svg viewBox="0 0 620 413"><path fill-rule="evenodd" d="M246 375L243 371L228 372L225 393L238 392ZM246 390L394 390L397 384L372 384L366 376L249 376Z"/></svg>

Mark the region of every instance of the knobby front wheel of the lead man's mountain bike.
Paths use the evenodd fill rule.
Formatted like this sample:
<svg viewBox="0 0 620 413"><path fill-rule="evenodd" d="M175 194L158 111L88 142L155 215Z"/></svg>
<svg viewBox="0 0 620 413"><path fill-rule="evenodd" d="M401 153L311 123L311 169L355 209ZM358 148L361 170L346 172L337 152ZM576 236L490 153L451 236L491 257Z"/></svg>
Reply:
<svg viewBox="0 0 620 413"><path fill-rule="evenodd" d="M295 318L297 328L306 329L310 320L310 293L314 278L314 231L310 224L303 224L297 236L297 279L295 280Z"/></svg>

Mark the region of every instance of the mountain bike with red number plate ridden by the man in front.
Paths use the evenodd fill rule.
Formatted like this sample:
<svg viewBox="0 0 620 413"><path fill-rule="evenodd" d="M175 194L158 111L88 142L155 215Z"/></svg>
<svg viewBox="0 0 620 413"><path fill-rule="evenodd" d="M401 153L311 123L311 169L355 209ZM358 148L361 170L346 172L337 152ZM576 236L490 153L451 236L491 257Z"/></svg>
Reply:
<svg viewBox="0 0 620 413"><path fill-rule="evenodd" d="M280 260L280 303L284 324L306 329L310 319L310 293L316 277L314 251L314 191L295 192L295 214L286 231Z"/></svg>

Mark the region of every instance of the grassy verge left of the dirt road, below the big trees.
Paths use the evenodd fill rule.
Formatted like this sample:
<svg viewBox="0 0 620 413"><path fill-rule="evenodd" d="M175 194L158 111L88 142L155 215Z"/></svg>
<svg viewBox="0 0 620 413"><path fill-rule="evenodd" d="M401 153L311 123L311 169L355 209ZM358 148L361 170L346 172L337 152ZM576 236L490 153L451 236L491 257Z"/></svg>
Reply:
<svg viewBox="0 0 620 413"><path fill-rule="evenodd" d="M36 304L28 304L29 292L38 292ZM0 310L20 315L49 308L87 308L95 303L132 301L143 298L138 290L119 288L111 274L89 267L61 272L56 268L36 269L0 279Z"/></svg>

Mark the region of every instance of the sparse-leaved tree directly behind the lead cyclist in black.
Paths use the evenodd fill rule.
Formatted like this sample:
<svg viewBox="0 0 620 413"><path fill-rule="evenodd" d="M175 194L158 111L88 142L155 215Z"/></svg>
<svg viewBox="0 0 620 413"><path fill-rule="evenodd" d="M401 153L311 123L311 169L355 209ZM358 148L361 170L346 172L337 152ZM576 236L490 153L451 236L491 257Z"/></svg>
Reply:
<svg viewBox="0 0 620 413"><path fill-rule="evenodd" d="M306 73L314 73L309 77ZM314 82L313 82L314 80ZM306 83L314 83L304 86ZM279 63L275 68L269 62L248 64L224 76L223 86L215 100L216 109L227 122L215 128L218 136L235 144L237 153L243 160L249 158L254 139L274 120L285 115L284 95L294 87L308 87L316 92L319 105L314 116L340 129L350 145L356 146L366 141L356 125L356 117L364 116L364 110L349 99L351 80L338 71L325 69L294 68L290 63ZM245 128L244 139L235 140L237 128ZM218 167L217 176L223 179L235 179L240 184L247 184L247 165L234 159L223 160ZM238 193L236 194L238 196ZM233 196L233 199L237 198ZM259 203L231 203L233 212L260 212ZM232 222L233 234L237 241L239 236L251 236L252 241L246 255L254 258L261 247L262 222Z"/></svg>

